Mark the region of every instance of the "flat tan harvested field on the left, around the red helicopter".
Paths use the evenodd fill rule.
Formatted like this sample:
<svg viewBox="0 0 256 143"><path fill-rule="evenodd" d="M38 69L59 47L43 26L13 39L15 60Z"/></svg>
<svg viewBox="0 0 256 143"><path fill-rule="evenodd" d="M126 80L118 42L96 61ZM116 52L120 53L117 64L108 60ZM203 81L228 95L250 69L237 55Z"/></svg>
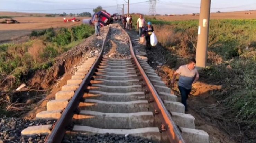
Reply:
<svg viewBox="0 0 256 143"><path fill-rule="evenodd" d="M32 16L30 16L32 15ZM0 24L0 43L2 42L20 42L20 40L28 39L27 36L32 30L40 30L47 28L61 28L73 27L81 25L80 22L63 21L63 17L45 17L45 14L36 13L15 13L15 12L0 12L0 16L10 16L12 19L20 22L19 24ZM67 19L73 17L66 17ZM77 19L84 19L88 17L77 17ZM4 21L7 18L0 18Z"/></svg>

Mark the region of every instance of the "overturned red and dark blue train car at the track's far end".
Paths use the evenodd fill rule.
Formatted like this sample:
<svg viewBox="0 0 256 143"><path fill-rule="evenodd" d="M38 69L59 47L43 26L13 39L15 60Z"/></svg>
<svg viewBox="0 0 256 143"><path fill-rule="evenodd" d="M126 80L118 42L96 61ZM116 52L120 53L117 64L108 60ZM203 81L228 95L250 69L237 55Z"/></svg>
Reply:
<svg viewBox="0 0 256 143"><path fill-rule="evenodd" d="M99 23L101 27L112 23L111 15L108 12L101 10L99 12L94 13L91 19L83 19L83 24L93 25L94 24L93 21L95 19L96 14L98 14L100 18Z"/></svg>

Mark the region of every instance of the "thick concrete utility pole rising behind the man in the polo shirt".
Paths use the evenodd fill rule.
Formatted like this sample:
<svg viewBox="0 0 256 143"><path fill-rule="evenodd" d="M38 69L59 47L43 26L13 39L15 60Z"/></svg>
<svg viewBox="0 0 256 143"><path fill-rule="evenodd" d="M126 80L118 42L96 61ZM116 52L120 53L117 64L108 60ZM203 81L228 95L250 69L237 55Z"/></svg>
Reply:
<svg viewBox="0 0 256 143"><path fill-rule="evenodd" d="M205 68L211 0L201 0L198 37L196 46L196 67Z"/></svg>

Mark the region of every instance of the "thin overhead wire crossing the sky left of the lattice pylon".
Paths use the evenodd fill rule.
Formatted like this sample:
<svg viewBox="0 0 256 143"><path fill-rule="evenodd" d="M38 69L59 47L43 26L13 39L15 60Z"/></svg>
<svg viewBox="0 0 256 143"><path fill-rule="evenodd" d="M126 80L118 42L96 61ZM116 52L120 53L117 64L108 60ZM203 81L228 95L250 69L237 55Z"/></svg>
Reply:
<svg viewBox="0 0 256 143"><path fill-rule="evenodd" d="M134 4L140 4L140 3L146 3L148 1L143 1L143 2L136 2L136 3L130 3L130 5ZM127 5L127 4L124 4ZM106 6L102 8L112 8L112 7L117 7L117 5L111 5L111 6ZM91 8L72 8L72 9L0 9L0 10L6 10L6 11L60 11L60 10L84 10L84 9L94 9L95 7Z"/></svg>

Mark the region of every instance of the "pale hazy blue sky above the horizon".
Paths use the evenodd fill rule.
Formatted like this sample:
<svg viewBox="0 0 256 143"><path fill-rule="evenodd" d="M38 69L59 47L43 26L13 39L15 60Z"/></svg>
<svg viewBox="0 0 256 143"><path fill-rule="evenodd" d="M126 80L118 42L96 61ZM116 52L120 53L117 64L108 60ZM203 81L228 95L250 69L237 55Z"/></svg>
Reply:
<svg viewBox="0 0 256 143"><path fill-rule="evenodd" d="M120 13L127 0L0 0L0 11L30 13L93 13L102 6L107 12ZM157 0L157 14L199 13L201 0ZM119 6L117 6L117 4ZM211 0L211 12L255 10L256 0ZM125 5L127 13L127 5ZM149 13L148 0L130 0L130 13Z"/></svg>

